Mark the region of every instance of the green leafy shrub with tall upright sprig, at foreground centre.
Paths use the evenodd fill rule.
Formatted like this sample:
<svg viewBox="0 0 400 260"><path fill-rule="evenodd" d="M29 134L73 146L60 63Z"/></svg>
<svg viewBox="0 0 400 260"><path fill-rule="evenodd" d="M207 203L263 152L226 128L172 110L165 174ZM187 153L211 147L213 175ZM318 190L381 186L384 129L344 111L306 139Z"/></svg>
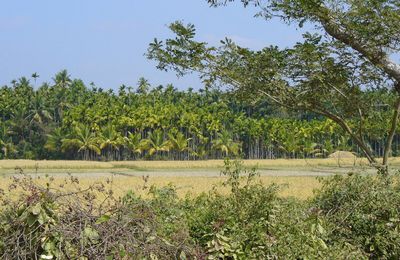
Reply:
<svg viewBox="0 0 400 260"><path fill-rule="evenodd" d="M190 235L211 258L366 258L356 246L329 243L323 216L309 210L308 202L279 198L280 187L261 185L254 170L227 162L223 174L228 176L230 194L216 189L186 201Z"/></svg>

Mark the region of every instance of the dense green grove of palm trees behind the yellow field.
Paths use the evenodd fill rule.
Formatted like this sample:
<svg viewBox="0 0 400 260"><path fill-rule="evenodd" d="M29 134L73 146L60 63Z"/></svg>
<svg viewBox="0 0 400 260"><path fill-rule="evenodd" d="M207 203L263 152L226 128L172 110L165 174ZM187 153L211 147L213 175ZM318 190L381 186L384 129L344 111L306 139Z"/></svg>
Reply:
<svg viewBox="0 0 400 260"><path fill-rule="evenodd" d="M22 77L0 89L1 158L258 159L358 152L332 121L288 113L267 101L248 103L219 90L151 87L145 79L114 93L85 86L67 71L36 87L37 77ZM385 91L365 95L390 98ZM378 109L381 122L367 123L364 129L379 156L381 130L389 117L384 106Z"/></svg>

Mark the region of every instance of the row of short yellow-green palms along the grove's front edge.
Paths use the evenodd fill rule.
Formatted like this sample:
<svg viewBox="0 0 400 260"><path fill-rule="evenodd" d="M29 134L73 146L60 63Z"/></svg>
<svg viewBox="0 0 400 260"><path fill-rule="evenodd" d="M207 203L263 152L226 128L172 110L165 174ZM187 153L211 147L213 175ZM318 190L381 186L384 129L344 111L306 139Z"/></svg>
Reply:
<svg viewBox="0 0 400 260"><path fill-rule="evenodd" d="M78 152L84 160L121 160L123 156L173 160L203 158L204 152L194 151L189 146L191 140L178 131L166 133L156 129L148 132L147 138L142 138L141 133L132 132L122 136L112 124L99 133L87 125L78 124L70 134L64 134L61 128L56 128L52 134L48 134L45 147L55 153ZM223 157L237 156L240 143L233 141L229 133L224 131L213 141L212 149L219 151Z"/></svg>

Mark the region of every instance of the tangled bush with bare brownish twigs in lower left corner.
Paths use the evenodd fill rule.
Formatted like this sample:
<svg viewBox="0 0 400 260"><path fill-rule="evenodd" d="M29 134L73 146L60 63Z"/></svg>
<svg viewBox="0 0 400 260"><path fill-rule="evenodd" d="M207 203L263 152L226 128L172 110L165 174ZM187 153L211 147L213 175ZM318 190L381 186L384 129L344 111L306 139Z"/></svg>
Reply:
<svg viewBox="0 0 400 260"><path fill-rule="evenodd" d="M192 256L182 239L159 236L151 204L141 199L118 200L102 183L87 189L70 177L69 190L35 184L29 176L14 177L2 196L0 255L2 259L174 259ZM183 242L182 242L183 241Z"/></svg>

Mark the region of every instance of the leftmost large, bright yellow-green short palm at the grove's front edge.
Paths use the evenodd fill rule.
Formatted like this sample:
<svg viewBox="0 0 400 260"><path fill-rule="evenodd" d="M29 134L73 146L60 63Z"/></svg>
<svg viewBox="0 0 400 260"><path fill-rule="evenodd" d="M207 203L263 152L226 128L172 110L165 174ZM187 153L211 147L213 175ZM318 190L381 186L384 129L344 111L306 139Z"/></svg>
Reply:
<svg viewBox="0 0 400 260"><path fill-rule="evenodd" d="M97 145L97 138L87 125L78 125L74 128L72 137L62 140L62 150L78 149L83 153L83 159L90 159L90 151L100 155L101 151Z"/></svg>

